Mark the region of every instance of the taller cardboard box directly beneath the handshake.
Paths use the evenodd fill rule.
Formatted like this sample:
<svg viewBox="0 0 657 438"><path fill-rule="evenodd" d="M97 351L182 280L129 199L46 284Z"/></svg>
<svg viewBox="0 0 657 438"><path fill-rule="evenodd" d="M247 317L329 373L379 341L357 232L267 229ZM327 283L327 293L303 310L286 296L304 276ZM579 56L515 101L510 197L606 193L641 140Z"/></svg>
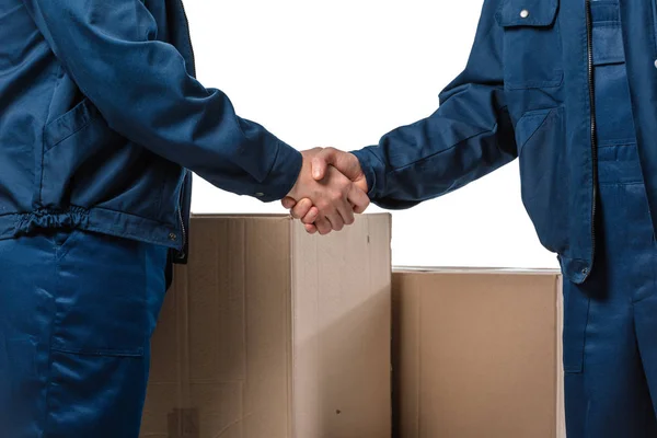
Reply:
<svg viewBox="0 0 657 438"><path fill-rule="evenodd" d="M191 228L140 436L390 437L390 216L328 237L286 216Z"/></svg>

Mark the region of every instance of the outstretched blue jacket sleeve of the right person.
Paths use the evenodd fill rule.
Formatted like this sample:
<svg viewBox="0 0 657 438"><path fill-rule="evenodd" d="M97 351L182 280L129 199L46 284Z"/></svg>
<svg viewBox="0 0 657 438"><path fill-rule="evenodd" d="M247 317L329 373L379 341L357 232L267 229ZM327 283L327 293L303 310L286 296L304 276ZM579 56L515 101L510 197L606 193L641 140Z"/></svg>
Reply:
<svg viewBox="0 0 657 438"><path fill-rule="evenodd" d="M462 187L517 157L504 95L498 5L499 0L485 1L468 66L440 93L439 108L387 134L379 145L354 152L374 204L408 208Z"/></svg>

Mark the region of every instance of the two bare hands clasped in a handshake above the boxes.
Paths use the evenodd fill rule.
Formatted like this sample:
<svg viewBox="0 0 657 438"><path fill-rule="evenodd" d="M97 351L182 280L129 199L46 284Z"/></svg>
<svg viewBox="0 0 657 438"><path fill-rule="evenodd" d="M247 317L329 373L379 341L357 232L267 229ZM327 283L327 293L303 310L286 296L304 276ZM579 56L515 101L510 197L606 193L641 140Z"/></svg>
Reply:
<svg viewBox="0 0 657 438"><path fill-rule="evenodd" d="M354 223L354 214L364 212L370 201L356 155L333 148L301 154L301 172L283 206L303 222L309 233L327 234Z"/></svg>

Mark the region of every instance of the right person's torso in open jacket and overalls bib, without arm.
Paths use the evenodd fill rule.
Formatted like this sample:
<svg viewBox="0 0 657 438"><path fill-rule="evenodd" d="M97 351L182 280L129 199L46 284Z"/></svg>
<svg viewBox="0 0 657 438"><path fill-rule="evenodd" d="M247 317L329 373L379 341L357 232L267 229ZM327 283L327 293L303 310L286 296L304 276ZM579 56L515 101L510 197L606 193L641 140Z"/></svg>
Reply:
<svg viewBox="0 0 657 438"><path fill-rule="evenodd" d="M653 0L503 0L497 11L522 200L575 283L593 265L601 139L636 145L657 207L656 11Z"/></svg>

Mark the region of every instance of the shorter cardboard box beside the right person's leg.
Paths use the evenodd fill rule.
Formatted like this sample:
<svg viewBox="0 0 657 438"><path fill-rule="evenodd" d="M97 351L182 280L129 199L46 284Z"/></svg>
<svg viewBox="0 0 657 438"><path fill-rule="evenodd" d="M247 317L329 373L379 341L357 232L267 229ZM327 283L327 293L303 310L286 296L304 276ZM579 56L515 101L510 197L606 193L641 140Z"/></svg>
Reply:
<svg viewBox="0 0 657 438"><path fill-rule="evenodd" d="M557 272L394 272L394 436L565 436L561 326Z"/></svg>

